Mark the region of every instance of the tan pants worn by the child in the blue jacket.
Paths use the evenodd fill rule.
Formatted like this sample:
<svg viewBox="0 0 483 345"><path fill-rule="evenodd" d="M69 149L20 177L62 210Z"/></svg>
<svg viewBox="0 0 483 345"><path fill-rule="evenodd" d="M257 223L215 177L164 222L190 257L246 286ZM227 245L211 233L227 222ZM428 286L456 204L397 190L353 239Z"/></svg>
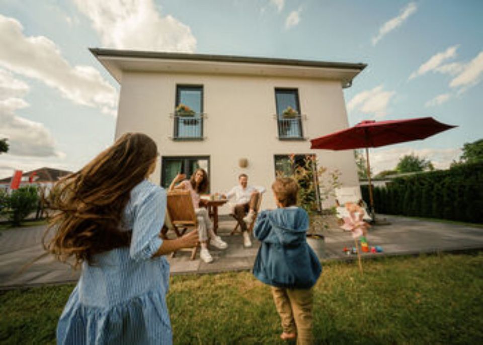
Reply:
<svg viewBox="0 0 483 345"><path fill-rule="evenodd" d="M312 289L272 287L273 300L285 333L297 333L297 345L313 344Z"/></svg>

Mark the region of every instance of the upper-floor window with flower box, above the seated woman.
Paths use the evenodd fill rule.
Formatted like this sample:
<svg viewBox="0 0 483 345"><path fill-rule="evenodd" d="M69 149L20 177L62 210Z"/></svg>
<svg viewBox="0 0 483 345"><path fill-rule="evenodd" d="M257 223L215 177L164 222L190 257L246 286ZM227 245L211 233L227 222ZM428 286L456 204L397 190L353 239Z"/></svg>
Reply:
<svg viewBox="0 0 483 345"><path fill-rule="evenodd" d="M180 107L187 107L183 111ZM175 139L203 138L203 87L178 85L176 87Z"/></svg>

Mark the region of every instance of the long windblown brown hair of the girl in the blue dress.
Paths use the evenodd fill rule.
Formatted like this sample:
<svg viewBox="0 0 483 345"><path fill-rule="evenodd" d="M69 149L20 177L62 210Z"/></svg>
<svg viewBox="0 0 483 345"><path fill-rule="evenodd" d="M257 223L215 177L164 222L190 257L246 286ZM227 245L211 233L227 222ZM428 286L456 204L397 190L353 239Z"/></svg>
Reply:
<svg viewBox="0 0 483 345"><path fill-rule="evenodd" d="M122 231L123 210L131 190L150 172L156 143L142 133L126 133L81 170L61 179L46 199L53 211L44 234L45 249L77 268L93 255L127 246L131 232ZM47 233L54 235L46 244Z"/></svg>

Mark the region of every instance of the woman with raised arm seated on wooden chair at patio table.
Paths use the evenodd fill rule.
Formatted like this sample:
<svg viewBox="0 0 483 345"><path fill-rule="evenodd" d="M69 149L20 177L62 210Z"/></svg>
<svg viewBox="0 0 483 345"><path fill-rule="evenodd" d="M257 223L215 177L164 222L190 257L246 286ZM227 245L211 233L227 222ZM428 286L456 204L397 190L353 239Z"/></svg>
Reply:
<svg viewBox="0 0 483 345"><path fill-rule="evenodd" d="M181 183L179 183L181 182ZM178 185L176 185L179 183ZM175 186L176 185L176 186ZM208 251L208 236L211 239L210 244L218 249L225 249L228 244L221 240L213 231L213 223L208 215L206 208L200 208L200 193L204 193L208 188L208 175L203 169L196 169L190 180L186 180L185 174L178 174L170 185L170 191L174 189L184 189L191 193L191 200L198 218L198 236L201 242L200 257L205 263L211 263L213 257Z"/></svg>

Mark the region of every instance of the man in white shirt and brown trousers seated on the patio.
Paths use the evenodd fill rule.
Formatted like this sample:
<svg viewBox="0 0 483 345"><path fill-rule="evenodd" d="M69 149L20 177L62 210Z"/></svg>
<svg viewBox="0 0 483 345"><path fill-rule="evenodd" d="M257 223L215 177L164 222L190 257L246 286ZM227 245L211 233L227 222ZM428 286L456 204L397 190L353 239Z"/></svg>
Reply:
<svg viewBox="0 0 483 345"><path fill-rule="evenodd" d="M265 193L265 188L248 186L248 176L246 174L240 174L240 176L238 176L238 182L238 186L233 187L228 193L223 194L221 197L227 199L235 197L233 215L238 221L238 224L240 224L241 233L243 234L244 239L243 245L250 247L252 246L252 241L250 240L250 234L247 231L247 223L253 221L255 212L258 211L256 209L258 199L260 198L260 194Z"/></svg>

